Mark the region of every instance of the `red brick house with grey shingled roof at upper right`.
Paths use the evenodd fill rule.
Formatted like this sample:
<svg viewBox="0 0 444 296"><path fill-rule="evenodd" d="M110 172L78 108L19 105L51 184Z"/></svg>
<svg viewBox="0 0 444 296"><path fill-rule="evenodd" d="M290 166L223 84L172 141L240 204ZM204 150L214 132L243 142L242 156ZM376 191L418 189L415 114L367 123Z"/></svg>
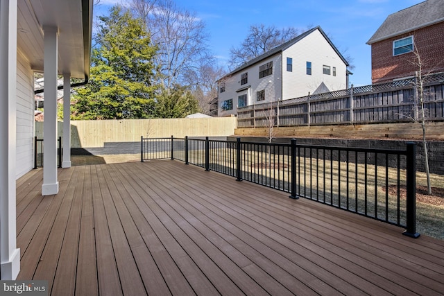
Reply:
<svg viewBox="0 0 444 296"><path fill-rule="evenodd" d="M423 71L444 71L444 1L427 0L388 15L368 40L372 83L415 75L418 51Z"/></svg>

